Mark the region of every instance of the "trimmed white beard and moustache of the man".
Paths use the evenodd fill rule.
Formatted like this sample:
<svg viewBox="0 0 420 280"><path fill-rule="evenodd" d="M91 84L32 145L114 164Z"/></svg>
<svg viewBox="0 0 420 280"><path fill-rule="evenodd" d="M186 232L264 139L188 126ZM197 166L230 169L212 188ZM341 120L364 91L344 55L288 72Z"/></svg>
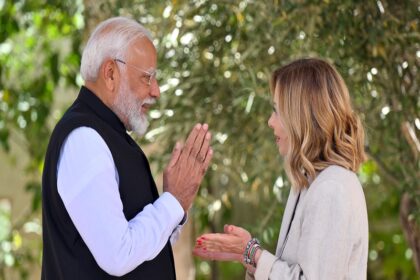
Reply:
<svg viewBox="0 0 420 280"><path fill-rule="evenodd" d="M145 100L137 98L135 93L130 89L128 81L124 79L120 83L112 109L120 119L122 116L125 116L127 121L125 126L127 130L131 130L141 137L146 133L147 127L149 126L147 116L142 113L141 108L144 104L154 103L156 103L155 98L146 98Z"/></svg>

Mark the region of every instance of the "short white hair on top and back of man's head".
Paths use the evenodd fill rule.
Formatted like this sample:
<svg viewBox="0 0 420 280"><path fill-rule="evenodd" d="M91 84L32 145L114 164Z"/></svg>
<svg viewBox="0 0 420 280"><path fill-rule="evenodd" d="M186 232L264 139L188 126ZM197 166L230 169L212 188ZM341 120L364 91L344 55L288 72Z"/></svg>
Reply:
<svg viewBox="0 0 420 280"><path fill-rule="evenodd" d="M153 42L150 32L135 20L113 17L101 22L90 35L83 50L80 72L85 81L96 81L99 68L106 59L126 59L130 44L146 36Z"/></svg>

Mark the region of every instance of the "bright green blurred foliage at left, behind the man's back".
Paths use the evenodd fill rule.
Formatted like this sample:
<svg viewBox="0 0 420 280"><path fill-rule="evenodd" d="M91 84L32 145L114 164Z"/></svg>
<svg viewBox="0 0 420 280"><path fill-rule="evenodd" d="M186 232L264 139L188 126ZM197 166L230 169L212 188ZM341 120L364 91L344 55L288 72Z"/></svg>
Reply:
<svg viewBox="0 0 420 280"><path fill-rule="evenodd" d="M31 211L2 228L0 277L14 268L20 279L30 275L41 257L41 171L50 136L48 121L54 94L76 84L79 68L81 4L72 1L0 1L0 144L10 141L29 155L26 189ZM10 217L9 217L10 218ZM18 277L18 276L16 276Z"/></svg>

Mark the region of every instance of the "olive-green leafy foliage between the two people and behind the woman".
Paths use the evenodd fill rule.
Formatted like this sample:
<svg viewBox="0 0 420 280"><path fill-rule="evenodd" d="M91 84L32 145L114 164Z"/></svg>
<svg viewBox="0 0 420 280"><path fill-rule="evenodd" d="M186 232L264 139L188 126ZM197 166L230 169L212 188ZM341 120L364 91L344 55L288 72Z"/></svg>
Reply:
<svg viewBox="0 0 420 280"><path fill-rule="evenodd" d="M371 160L360 176L371 225L369 277L415 277L407 244L391 242L395 236L402 239L401 194L409 192L415 199L413 215L419 217L415 211L420 209L420 165L401 132L404 122L417 137L420 128L415 2L177 1L153 15L152 22L139 19L159 27L165 78L160 112L165 113L148 136L166 151L156 159L163 166L161 155L168 155L196 121L208 122L215 138L212 170L195 204L198 231L206 225L221 231L224 223L240 224L274 248L282 205L264 206L276 198L284 203L288 188L284 173L273 186L282 166L266 126L267 81L274 68L293 58L320 56L342 73L366 124ZM394 226L384 228L383 221ZM200 267L198 261L198 273L206 274ZM228 265L221 272L212 268L222 279L233 279L223 274ZM378 268L384 272L377 273Z"/></svg>

